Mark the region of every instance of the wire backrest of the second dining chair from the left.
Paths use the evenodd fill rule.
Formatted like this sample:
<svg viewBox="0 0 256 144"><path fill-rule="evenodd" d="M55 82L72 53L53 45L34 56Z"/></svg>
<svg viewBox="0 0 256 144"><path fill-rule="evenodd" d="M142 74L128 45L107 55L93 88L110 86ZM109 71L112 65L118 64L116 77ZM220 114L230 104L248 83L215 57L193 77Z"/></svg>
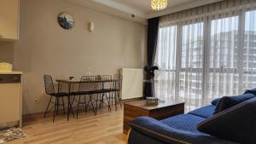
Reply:
<svg viewBox="0 0 256 144"><path fill-rule="evenodd" d="M93 90L96 90L96 76L83 76L80 80L79 91L88 92Z"/></svg>

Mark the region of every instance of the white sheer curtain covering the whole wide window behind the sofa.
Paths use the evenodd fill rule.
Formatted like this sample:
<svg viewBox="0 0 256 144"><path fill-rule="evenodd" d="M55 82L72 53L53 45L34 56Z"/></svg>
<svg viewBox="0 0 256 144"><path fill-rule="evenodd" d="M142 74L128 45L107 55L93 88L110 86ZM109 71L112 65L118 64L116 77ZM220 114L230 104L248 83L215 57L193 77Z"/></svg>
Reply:
<svg viewBox="0 0 256 144"><path fill-rule="evenodd" d="M160 18L155 93L186 111L256 87L256 5L225 0Z"/></svg>

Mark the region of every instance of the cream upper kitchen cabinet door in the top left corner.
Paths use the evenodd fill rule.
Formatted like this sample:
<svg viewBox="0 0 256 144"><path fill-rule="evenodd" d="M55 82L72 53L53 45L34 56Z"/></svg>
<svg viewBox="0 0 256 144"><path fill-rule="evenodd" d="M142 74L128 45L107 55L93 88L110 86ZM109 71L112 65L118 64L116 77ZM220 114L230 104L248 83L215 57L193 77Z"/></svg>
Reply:
<svg viewBox="0 0 256 144"><path fill-rule="evenodd" d="M19 39L19 0L0 0L0 39Z"/></svg>

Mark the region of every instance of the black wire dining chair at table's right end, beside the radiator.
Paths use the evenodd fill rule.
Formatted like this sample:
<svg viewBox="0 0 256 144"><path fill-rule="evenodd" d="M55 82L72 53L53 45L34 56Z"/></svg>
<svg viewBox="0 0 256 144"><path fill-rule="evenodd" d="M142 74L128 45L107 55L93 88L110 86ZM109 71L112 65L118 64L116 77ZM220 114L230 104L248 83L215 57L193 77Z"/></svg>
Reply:
<svg viewBox="0 0 256 144"><path fill-rule="evenodd" d="M111 90L113 92L114 96L114 104L115 104L115 110L117 110L117 102L119 101L120 107L122 108L122 101L120 98L120 93L122 90L123 85L123 76L121 74L115 74L113 76L113 89Z"/></svg>

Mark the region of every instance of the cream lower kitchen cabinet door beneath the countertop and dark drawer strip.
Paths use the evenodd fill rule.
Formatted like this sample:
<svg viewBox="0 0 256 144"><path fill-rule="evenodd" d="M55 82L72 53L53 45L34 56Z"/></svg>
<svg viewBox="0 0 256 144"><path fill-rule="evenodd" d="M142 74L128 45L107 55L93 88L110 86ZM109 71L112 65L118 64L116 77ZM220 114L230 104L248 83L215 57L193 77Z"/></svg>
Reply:
<svg viewBox="0 0 256 144"><path fill-rule="evenodd" d="M0 84L0 124L20 121L20 101L20 83Z"/></svg>

